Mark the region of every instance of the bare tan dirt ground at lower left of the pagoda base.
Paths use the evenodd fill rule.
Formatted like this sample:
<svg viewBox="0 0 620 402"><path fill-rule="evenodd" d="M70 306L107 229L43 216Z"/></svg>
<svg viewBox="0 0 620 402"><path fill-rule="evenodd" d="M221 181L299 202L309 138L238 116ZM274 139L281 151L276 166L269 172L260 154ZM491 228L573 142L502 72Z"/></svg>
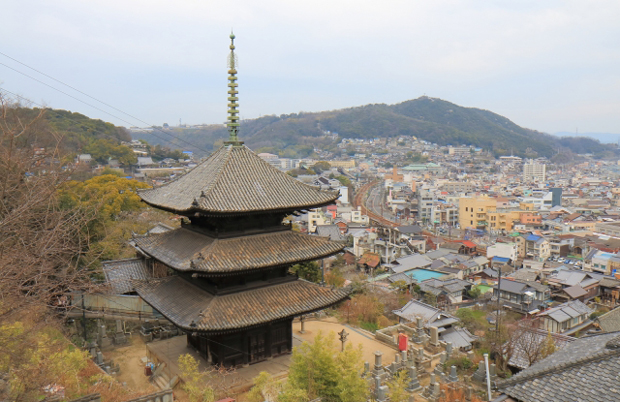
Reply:
<svg viewBox="0 0 620 402"><path fill-rule="evenodd" d="M157 387L152 385L148 377L144 375L144 363L142 358L146 356L146 345L137 336L130 340L129 346L103 351L106 360L112 359L120 365L121 371L116 379L126 383L127 388L138 392L156 392Z"/></svg>

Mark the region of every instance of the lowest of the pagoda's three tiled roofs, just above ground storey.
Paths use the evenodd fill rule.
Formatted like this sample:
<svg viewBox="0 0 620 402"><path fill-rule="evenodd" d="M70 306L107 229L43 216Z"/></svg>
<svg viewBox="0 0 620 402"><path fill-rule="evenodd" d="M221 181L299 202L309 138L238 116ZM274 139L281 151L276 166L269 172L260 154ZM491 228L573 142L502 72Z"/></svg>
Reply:
<svg viewBox="0 0 620 402"><path fill-rule="evenodd" d="M345 289L304 280L213 295L180 276L132 281L154 309L187 331L222 333L293 318L330 307L348 296Z"/></svg>

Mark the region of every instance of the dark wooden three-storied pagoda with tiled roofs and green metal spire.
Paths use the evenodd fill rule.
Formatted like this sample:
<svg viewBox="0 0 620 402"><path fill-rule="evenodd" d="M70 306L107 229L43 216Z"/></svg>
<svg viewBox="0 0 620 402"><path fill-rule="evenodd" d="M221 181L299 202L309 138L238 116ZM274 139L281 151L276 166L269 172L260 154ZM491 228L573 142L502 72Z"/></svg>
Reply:
<svg viewBox="0 0 620 402"><path fill-rule="evenodd" d="M291 230L283 219L332 204L337 192L303 184L238 138L234 35L229 56L229 141L184 176L143 190L147 204L188 218L181 228L135 239L149 264L172 275L135 280L138 294L187 333L209 362L251 364L292 349L293 318L334 305L346 291L288 273L292 264L342 250Z"/></svg>

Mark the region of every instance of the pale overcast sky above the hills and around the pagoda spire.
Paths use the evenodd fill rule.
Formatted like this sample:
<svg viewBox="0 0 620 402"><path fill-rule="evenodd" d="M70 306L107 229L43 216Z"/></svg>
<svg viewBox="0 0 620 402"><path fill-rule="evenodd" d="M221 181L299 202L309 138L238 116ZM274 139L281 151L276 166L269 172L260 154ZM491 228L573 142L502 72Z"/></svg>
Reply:
<svg viewBox="0 0 620 402"><path fill-rule="evenodd" d="M617 0L8 0L0 52L150 124L220 123L234 28L242 118L426 94L541 131L620 133L619 17ZM0 65L8 91L144 126L0 63L126 122Z"/></svg>

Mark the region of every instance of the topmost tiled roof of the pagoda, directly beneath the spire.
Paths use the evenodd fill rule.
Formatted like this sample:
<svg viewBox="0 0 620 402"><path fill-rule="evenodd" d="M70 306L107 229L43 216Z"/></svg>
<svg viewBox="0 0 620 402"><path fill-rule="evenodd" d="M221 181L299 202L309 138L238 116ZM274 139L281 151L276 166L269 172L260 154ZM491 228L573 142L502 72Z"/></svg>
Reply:
<svg viewBox="0 0 620 402"><path fill-rule="evenodd" d="M167 211L216 215L316 208L339 197L279 171L245 145L224 145L187 174L139 195Z"/></svg>

